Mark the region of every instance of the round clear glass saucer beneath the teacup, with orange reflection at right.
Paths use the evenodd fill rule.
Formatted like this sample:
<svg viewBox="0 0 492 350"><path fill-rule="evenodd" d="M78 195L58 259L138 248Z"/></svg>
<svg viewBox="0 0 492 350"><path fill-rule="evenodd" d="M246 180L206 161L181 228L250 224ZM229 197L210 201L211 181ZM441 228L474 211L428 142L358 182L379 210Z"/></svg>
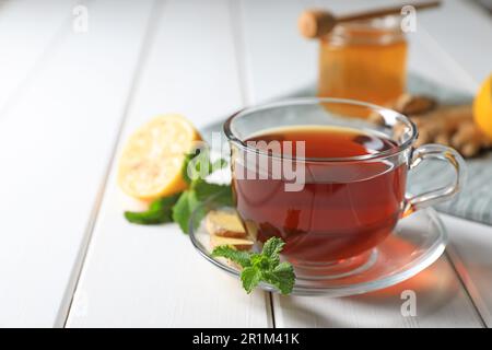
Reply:
<svg viewBox="0 0 492 350"><path fill-rule="evenodd" d="M196 226L195 219L192 215L190 228ZM189 236L194 246L208 261L239 278L238 268L229 265L225 259L211 257L210 235L203 223L196 230L191 229ZM446 242L446 231L437 213L432 208L419 210L400 220L393 234L371 252L351 258L354 261L354 268L351 270L341 267L340 273L326 276L319 273L316 278L311 278L295 268L297 278L292 294L347 296L397 284L437 260L445 249ZM254 249L259 247L256 246ZM261 283L260 288L278 292L276 288L266 283Z"/></svg>

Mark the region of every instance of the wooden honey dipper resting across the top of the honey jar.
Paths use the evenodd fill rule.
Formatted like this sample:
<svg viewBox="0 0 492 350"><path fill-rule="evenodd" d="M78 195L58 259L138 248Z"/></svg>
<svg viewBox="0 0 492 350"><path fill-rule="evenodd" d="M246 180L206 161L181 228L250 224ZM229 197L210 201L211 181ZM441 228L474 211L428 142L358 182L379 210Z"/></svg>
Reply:
<svg viewBox="0 0 492 350"><path fill-rule="evenodd" d="M441 1L408 3L406 5L412 5L415 10L423 10L436 8L441 5ZM297 24L298 30L303 36L307 38L319 38L330 33L331 30L339 23L370 20L400 13L401 7L364 11L342 16L335 16L331 12L325 10L307 10L301 14Z"/></svg>

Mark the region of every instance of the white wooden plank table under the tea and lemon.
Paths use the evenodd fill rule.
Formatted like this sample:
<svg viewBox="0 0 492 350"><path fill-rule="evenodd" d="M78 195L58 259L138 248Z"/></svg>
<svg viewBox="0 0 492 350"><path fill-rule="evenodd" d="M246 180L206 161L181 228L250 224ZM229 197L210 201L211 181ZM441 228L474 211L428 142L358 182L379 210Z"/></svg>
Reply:
<svg viewBox="0 0 492 350"><path fill-rule="evenodd" d="M492 228L442 215L431 268L356 298L246 295L174 224L128 224L121 141L150 117L198 127L316 80L302 9L396 1L0 2L0 326L492 326ZM77 11L75 11L77 12ZM80 12L77 12L80 13ZM80 22L78 22L80 23ZM412 71L473 92L492 70L492 21L470 1L418 15ZM417 291L417 316L400 313Z"/></svg>

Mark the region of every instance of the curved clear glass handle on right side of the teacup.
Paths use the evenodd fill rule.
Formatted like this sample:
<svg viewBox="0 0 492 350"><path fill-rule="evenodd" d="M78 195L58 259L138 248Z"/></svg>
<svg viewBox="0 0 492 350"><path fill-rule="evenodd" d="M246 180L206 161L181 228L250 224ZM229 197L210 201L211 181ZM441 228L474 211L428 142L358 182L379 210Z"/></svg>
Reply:
<svg viewBox="0 0 492 350"><path fill-rule="evenodd" d="M424 144L413 150L412 159L410 161L410 170L415 168L423 161L432 159L448 162L456 172L455 180L447 186L407 198L405 201L406 206L403 217L411 214L418 209L450 199L465 184L465 160L454 149L442 144Z"/></svg>

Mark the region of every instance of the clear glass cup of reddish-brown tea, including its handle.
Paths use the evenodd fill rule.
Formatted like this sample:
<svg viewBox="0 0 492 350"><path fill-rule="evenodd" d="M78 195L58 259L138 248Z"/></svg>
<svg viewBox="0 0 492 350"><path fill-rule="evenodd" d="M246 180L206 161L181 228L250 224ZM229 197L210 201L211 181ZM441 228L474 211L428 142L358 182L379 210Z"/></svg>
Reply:
<svg viewBox="0 0 492 350"><path fill-rule="evenodd" d="M347 109L378 118L339 113ZM244 226L261 243L281 237L283 258L304 271L363 264L398 220L448 200L464 184L465 162L455 150L414 149L418 131L410 119L367 103L271 103L231 116L224 132ZM408 172L430 159L449 163L453 183L406 195Z"/></svg>

